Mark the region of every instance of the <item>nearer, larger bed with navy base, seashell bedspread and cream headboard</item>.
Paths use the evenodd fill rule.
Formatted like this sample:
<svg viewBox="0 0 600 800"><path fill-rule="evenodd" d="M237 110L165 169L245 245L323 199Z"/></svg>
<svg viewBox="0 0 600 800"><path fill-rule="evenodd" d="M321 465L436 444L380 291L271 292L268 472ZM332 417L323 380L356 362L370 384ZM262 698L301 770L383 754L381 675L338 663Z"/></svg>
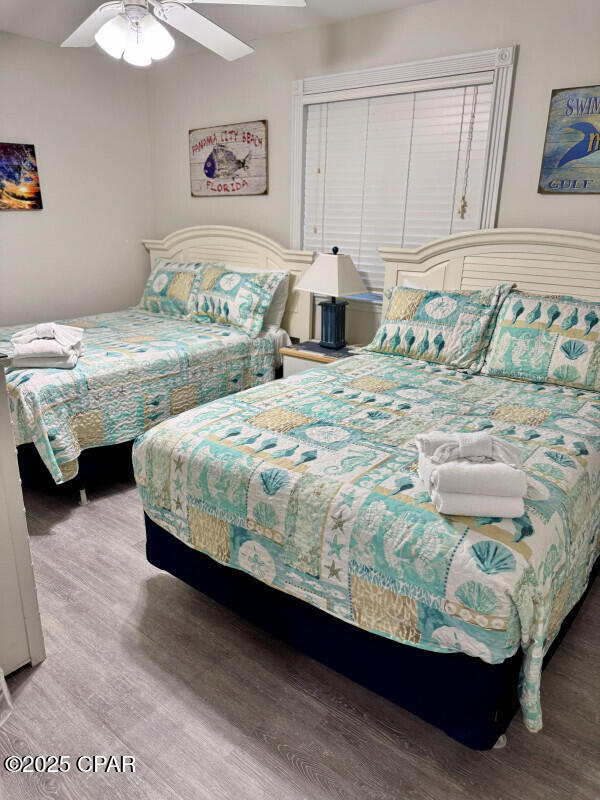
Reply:
<svg viewBox="0 0 600 800"><path fill-rule="evenodd" d="M600 238L532 230L383 250L386 284L600 299ZM517 519L444 517L414 436L489 430L529 476ZM363 352L186 412L140 437L147 555L293 644L486 749L589 585L600 395ZM233 568L233 569L232 569Z"/></svg>

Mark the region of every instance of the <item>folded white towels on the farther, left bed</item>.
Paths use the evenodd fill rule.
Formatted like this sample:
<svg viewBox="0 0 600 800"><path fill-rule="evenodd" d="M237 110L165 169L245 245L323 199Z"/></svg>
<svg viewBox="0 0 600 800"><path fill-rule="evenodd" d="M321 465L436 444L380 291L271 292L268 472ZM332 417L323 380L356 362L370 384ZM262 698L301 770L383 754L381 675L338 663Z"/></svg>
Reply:
<svg viewBox="0 0 600 800"><path fill-rule="evenodd" d="M44 322L11 337L14 367L73 369L83 352L83 328Z"/></svg>

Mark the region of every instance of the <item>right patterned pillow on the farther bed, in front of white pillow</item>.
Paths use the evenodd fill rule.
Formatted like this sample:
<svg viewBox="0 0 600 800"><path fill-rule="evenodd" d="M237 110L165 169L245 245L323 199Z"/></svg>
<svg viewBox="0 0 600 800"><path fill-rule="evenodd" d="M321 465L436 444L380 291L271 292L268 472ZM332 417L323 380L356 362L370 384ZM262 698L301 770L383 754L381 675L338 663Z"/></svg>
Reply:
<svg viewBox="0 0 600 800"><path fill-rule="evenodd" d="M286 279L285 272L236 272L205 265L194 286L196 318L228 323L256 335L277 287Z"/></svg>

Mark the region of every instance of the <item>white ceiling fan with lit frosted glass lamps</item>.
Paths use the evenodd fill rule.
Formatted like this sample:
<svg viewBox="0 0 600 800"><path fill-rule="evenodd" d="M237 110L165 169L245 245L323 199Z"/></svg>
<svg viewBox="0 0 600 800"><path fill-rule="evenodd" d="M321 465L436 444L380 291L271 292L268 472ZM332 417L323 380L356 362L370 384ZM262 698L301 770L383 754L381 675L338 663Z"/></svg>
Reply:
<svg viewBox="0 0 600 800"><path fill-rule="evenodd" d="M61 47L91 47L94 42L113 58L136 67L147 67L153 60L166 58L175 47L166 22L195 42L227 61L234 61L254 48L224 28L198 14L194 3L241 6L305 7L306 0L112 0L99 6Z"/></svg>

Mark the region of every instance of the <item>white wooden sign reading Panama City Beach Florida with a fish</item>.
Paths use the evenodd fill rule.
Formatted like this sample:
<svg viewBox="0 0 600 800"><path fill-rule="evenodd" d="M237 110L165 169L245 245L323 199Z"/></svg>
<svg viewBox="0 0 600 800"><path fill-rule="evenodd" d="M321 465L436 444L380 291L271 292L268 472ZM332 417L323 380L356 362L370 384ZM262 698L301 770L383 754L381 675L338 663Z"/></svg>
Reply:
<svg viewBox="0 0 600 800"><path fill-rule="evenodd" d="M192 197L267 194L267 121L190 131Z"/></svg>

